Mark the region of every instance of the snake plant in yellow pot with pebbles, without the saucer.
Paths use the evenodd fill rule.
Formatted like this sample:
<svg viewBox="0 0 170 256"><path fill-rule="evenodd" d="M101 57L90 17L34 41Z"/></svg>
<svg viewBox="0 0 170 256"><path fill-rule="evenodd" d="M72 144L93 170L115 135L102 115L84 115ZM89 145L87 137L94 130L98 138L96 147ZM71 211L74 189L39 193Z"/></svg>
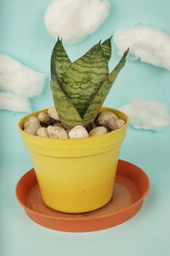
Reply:
<svg viewBox="0 0 170 256"><path fill-rule="evenodd" d="M54 210L89 212L111 200L127 116L101 106L127 53L128 49L109 73L111 38L74 62L59 39L54 46L51 90L55 108L31 113L19 123L42 199Z"/></svg>

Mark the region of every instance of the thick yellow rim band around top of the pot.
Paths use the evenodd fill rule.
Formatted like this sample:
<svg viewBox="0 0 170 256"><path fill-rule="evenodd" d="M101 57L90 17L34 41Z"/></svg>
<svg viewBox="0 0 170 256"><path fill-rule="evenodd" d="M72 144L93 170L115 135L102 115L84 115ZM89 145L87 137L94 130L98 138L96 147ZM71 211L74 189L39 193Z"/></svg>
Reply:
<svg viewBox="0 0 170 256"><path fill-rule="evenodd" d="M43 111L47 111L47 109L44 109ZM122 141L124 140L128 124L128 117L125 113L113 108L101 108L101 112L104 111L112 111L113 113L117 113L120 118L126 121L125 125L122 125L121 128L115 131L95 137L80 139L44 138L31 135L22 130L22 125L26 117L37 115L37 113L42 112L42 110L39 110L20 119L18 124L20 135L23 138L26 147L31 150L31 152L37 154L50 155L54 157L82 157L94 154L103 154L104 152L110 151L113 148L120 147Z"/></svg>

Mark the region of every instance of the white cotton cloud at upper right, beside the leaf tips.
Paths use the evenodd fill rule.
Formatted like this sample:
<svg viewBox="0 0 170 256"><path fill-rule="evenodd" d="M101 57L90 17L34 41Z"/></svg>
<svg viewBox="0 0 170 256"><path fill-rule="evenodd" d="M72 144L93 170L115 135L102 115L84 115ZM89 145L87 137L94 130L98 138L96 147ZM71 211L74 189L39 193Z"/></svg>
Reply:
<svg viewBox="0 0 170 256"><path fill-rule="evenodd" d="M170 70L170 36L165 32L140 24L116 32L114 37L120 55L129 48L132 60L140 59Z"/></svg>

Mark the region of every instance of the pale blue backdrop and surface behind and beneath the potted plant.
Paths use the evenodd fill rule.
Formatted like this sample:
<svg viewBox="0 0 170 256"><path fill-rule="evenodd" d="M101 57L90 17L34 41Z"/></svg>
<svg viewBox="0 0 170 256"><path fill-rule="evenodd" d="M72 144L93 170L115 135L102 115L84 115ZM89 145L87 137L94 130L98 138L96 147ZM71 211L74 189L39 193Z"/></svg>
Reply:
<svg viewBox="0 0 170 256"><path fill-rule="evenodd" d="M65 45L71 60L90 46L120 29L137 23L155 26L170 34L168 0L111 0L111 15L93 35L79 44ZM49 90L49 60L55 39L44 24L49 0L6 0L0 3L0 52L47 73L42 95L31 99L32 110L53 105ZM113 45L111 68L119 61ZM127 61L105 106L119 108L134 97L167 103L170 107L170 73L140 61ZM129 126L120 157L144 169L150 177L150 193L140 212L126 223L92 233L64 233L45 229L27 218L15 199L19 178L31 169L29 154L21 141L17 122L26 113L0 111L0 255L167 255L170 230L170 127L138 131Z"/></svg>

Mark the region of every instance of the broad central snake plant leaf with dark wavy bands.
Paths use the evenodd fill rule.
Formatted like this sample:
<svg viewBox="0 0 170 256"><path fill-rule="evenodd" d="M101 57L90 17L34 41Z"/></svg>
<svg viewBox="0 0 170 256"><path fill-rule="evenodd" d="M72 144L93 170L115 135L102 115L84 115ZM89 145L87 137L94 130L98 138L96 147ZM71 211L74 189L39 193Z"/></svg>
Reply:
<svg viewBox="0 0 170 256"><path fill-rule="evenodd" d="M108 73L107 61L100 44L95 44L67 69L61 88L81 116L88 109Z"/></svg>

